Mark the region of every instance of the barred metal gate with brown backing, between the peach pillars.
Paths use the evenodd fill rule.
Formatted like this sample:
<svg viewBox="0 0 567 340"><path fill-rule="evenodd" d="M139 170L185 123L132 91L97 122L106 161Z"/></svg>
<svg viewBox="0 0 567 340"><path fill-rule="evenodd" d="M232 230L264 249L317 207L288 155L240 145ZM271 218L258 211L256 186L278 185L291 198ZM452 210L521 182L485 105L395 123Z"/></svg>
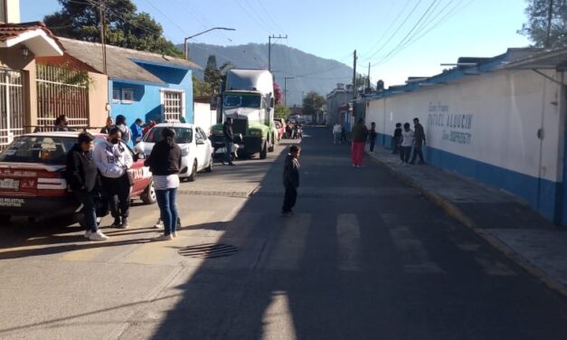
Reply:
<svg viewBox="0 0 567 340"><path fill-rule="evenodd" d="M69 127L89 125L89 80L86 72L37 64L36 131L51 131L65 115Z"/></svg>

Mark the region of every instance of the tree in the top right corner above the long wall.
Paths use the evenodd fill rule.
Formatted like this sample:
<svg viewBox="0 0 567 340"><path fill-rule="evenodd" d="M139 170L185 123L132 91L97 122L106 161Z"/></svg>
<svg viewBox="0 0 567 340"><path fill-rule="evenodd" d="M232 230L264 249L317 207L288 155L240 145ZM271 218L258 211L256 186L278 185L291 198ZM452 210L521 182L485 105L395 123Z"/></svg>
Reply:
<svg viewBox="0 0 567 340"><path fill-rule="evenodd" d="M567 1L527 0L528 22L518 33L534 42L534 46L559 48L567 46ZM550 13L551 10L551 13ZM551 17L550 17L551 14ZM550 21L551 18L551 21ZM548 37L549 29L549 37ZM549 38L549 39L548 39Z"/></svg>

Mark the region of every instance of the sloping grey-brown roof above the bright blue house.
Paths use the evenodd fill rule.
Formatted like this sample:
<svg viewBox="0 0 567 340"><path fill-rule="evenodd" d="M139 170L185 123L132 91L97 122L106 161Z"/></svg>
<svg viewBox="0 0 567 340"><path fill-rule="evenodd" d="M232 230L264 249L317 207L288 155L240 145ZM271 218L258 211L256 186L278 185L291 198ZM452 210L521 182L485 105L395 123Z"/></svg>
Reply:
<svg viewBox="0 0 567 340"><path fill-rule="evenodd" d="M61 38L59 41L71 57L84 62L96 71L103 72L102 44L82 42ZM158 65L182 70L202 70L193 61L170 57L162 54L130 50L107 44L107 73L110 79L137 80L150 83L165 83L154 73L147 71L140 64Z"/></svg>

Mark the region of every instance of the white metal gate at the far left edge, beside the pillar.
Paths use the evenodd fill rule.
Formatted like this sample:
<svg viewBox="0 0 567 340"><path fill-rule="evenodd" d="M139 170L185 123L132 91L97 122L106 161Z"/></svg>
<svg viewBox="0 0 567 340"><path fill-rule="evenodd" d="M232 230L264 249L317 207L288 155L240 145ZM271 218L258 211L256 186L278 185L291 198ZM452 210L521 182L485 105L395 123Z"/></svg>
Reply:
<svg viewBox="0 0 567 340"><path fill-rule="evenodd" d="M24 133L22 71L0 68L0 150Z"/></svg>

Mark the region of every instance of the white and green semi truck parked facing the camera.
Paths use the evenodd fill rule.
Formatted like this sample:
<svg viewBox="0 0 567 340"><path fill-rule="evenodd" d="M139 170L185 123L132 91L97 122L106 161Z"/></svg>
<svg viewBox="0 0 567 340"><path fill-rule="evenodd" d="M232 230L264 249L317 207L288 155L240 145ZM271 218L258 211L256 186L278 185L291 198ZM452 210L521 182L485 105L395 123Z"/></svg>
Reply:
<svg viewBox="0 0 567 340"><path fill-rule="evenodd" d="M234 143L238 155L260 154L264 159L274 151L277 133L274 123L273 76L268 70L232 69L227 72L225 87L216 100L222 121L211 127L212 142L224 142L222 122L232 118Z"/></svg>

